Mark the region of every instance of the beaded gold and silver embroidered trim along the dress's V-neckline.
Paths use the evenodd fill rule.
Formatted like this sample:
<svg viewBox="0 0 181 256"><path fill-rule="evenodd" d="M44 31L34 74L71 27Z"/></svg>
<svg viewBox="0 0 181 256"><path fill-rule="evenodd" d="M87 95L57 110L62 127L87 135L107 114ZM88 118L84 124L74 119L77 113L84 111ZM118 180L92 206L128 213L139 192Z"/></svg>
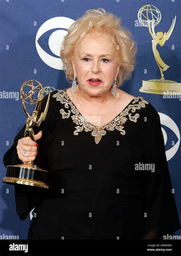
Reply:
<svg viewBox="0 0 181 256"><path fill-rule="evenodd" d="M132 122L137 122L137 119L139 118L138 113L134 115L132 115L131 113L134 113L136 109L145 108L145 104L148 104L148 101L146 101L143 97L134 96L134 98L130 101L126 108L124 108L120 114L112 119L112 121L104 124L103 126L95 126L94 124L91 124L84 119L84 117L79 113L76 106L68 97L68 94L65 90L66 89L58 90L58 92L53 95L53 98L56 98L57 101L60 101L60 103L64 104L66 109L70 106L70 110L68 110L68 112L66 112L63 108L60 109L60 114L62 115L62 118L69 118L70 114L73 113L73 115L71 115L71 118L73 122L77 125L75 126L76 130L74 130L73 134L78 135L79 132L82 132L82 130L85 130L85 132L91 132L91 135L94 137L96 144L98 144L102 136L106 134L106 130L113 131L116 129L120 131L120 134L125 135L126 132L124 130L123 124L128 119Z"/></svg>

